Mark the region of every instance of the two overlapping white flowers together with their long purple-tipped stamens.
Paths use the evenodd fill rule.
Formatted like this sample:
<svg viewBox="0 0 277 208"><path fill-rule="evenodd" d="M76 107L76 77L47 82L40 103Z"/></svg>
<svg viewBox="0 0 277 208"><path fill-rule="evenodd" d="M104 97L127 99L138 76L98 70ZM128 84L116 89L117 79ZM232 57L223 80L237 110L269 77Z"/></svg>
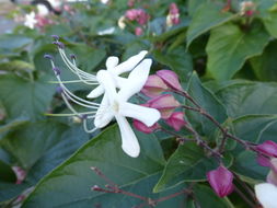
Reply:
<svg viewBox="0 0 277 208"><path fill-rule="evenodd" d="M45 56L51 62L53 70L60 85L59 92L69 109L72 112L72 114L66 114L66 116L79 116L82 118L84 129L88 132L105 127L115 118L120 130L123 150L130 157L138 157L140 152L139 142L126 117L135 118L148 127L154 125L161 117L159 111L154 108L128 102L134 94L142 89L147 81L152 63L151 59L143 59L147 51L141 51L120 65L118 65L119 59L117 57L108 57L106 60L106 70L100 70L96 76L94 76L79 69L76 63L76 57L71 56L70 60L65 53L64 44L58 41L57 36L54 36L54 38L56 39L55 44L58 46L61 59L79 78L79 80L62 81L60 77L61 72L55 66L53 57L49 55ZM119 74L128 71L131 72L127 79L119 77ZM97 85L89 93L88 97L99 97L103 94L102 102L99 104L74 95L65 85L65 83L72 82ZM90 111L79 113L70 102L89 108ZM86 126L86 122L90 119L94 120L93 124L95 127L92 129L89 129Z"/></svg>

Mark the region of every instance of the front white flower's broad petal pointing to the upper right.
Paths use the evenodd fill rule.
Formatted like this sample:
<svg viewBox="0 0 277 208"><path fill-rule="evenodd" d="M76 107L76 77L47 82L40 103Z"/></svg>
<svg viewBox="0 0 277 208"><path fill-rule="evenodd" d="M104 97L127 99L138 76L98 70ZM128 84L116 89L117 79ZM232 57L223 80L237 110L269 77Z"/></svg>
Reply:
<svg viewBox="0 0 277 208"><path fill-rule="evenodd" d="M130 72L127 82L118 92L118 96L122 101L127 101L143 88L147 82L151 65L151 59L145 59Z"/></svg>

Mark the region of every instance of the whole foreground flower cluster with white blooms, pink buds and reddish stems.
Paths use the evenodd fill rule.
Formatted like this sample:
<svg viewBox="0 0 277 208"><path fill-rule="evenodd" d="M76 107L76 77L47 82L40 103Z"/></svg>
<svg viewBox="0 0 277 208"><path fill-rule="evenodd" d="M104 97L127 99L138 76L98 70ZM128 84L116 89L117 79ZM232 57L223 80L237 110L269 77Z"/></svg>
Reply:
<svg viewBox="0 0 277 208"><path fill-rule="evenodd" d="M92 132L95 129L103 128L115 118L120 130L122 148L124 152L132 158L139 155L140 146L126 117L132 118L134 127L145 134L163 131L177 138L180 146L194 142L205 150L207 157L217 161L217 169L207 171L206 176L218 197L226 197L233 190L242 194L238 190L235 183L233 183L234 180L240 181L240 176L234 174L224 163L226 142L227 140L233 140L246 150L255 152L259 165L270 169L267 183L255 186L256 197L253 199L255 204L243 196L242 198L252 207L258 204L262 204L265 208L277 207L277 143L267 140L262 145L256 145L232 135L228 128L215 119L182 88L175 72L171 70L159 70L155 74L149 76L152 60L146 58L148 51L142 50L122 63L119 63L117 57L108 57L106 60L106 69L100 70L96 74L91 74L79 69L76 63L76 56L71 55L68 58L64 44L59 42L57 36L54 36L54 44L57 45L65 65L79 80L64 81L62 73L55 65L54 58L50 55L45 55L45 57L50 60L53 70L57 77L59 83L58 92L61 94L68 108L72 112L72 114L66 115L81 118L85 131ZM123 77L124 73L129 74L126 78ZM66 84L73 82L83 82L94 86L88 94L88 100L81 99L69 91ZM138 94L139 100L143 101L143 103L135 104L130 102L130 97L136 94ZM102 96L101 103L90 101L91 99L100 96ZM183 100L189 102L191 105L181 104ZM88 111L79 112L72 104L85 107ZM198 113L211 122L219 129L222 136L221 141L215 145L205 140L185 118L184 109ZM91 120L93 120L94 127L89 129L88 126L91 125L88 125L88 122ZM181 134L182 130L187 131L188 136ZM150 199L120 189L97 167L92 167L92 170L107 182L106 188L94 185L92 187L93 190L128 195L143 200L146 205L151 207L181 194L194 194L192 185L180 193L159 199ZM242 185L246 186L245 189L251 196L255 196L253 189L249 188L245 183L242 183Z"/></svg>

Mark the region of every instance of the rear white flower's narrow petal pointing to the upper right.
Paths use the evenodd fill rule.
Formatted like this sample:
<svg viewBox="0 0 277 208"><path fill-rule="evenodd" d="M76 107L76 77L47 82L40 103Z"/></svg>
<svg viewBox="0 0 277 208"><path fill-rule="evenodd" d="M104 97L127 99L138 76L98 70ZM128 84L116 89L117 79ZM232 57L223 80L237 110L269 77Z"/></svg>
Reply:
<svg viewBox="0 0 277 208"><path fill-rule="evenodd" d="M128 60L122 62L120 65L115 67L115 71L117 74L122 74L124 72L132 70L147 55L147 50L140 51L138 55L130 57Z"/></svg>

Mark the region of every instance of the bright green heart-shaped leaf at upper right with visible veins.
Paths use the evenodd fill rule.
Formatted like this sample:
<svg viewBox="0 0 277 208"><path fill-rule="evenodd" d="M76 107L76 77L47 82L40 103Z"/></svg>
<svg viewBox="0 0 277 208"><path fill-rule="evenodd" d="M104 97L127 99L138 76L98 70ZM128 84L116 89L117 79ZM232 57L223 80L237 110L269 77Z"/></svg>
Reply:
<svg viewBox="0 0 277 208"><path fill-rule="evenodd" d="M263 53L268 37L258 24L246 32L231 23L212 30L206 47L208 76L217 80L231 79L246 59Z"/></svg>

